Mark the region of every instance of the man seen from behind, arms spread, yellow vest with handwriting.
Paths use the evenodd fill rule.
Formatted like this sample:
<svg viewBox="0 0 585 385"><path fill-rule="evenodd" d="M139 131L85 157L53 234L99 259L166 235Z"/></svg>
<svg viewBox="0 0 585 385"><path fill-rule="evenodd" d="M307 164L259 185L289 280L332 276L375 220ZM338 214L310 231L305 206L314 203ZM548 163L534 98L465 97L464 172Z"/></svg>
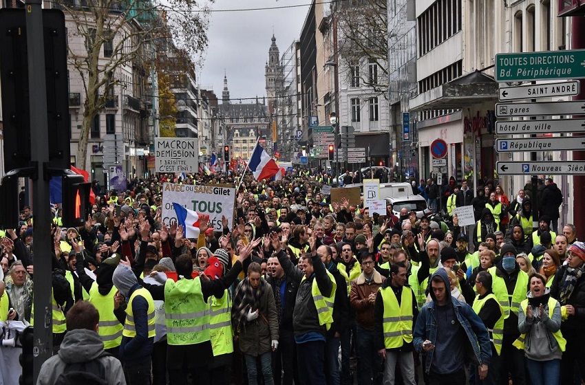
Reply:
<svg viewBox="0 0 585 385"><path fill-rule="evenodd" d="M227 301L226 289L240 274L244 261L260 241L262 239L244 246L231 270L220 279L208 281L200 278L200 275L193 278L193 260L191 256L184 254L175 261L175 269L180 276L177 282L157 273L153 276L164 281L164 285L143 283L154 300L164 300L167 319L167 369L171 384L187 384L189 374L202 384L210 383L210 364L213 358L211 333L215 329L204 327L212 321L209 298L215 296ZM180 322L176 322L179 319ZM197 360L193 360L194 357Z"/></svg>

